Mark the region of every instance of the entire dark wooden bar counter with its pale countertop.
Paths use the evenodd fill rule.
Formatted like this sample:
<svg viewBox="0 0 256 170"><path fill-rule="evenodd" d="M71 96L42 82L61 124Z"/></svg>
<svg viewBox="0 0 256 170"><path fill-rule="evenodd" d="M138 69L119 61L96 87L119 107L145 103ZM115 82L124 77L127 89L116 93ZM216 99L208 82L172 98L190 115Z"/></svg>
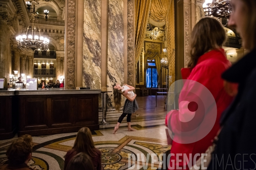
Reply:
<svg viewBox="0 0 256 170"><path fill-rule="evenodd" d="M77 132L81 127L99 129L100 90L20 90L14 91L14 94L13 91L7 92L16 100L11 102L10 95L0 96L0 136L12 132L10 117L14 120L18 117L18 136ZM2 113L4 108L5 114ZM11 108L17 108L18 116L10 113Z"/></svg>

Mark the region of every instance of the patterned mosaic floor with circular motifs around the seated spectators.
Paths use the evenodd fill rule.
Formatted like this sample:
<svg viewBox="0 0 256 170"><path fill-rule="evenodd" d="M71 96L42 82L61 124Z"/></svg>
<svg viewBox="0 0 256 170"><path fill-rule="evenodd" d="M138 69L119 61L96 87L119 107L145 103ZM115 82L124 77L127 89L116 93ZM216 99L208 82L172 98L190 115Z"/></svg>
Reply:
<svg viewBox="0 0 256 170"><path fill-rule="evenodd" d="M167 145L164 116L158 116L155 120L141 119L137 122L132 119L131 127L136 131L127 130L125 119L116 134L113 134L116 121L111 122L110 125L100 125L99 130L92 131L95 146L102 152L104 169L156 169L154 167L160 164L159 155L170 149ZM15 138L0 141L0 166L6 164L6 150ZM33 136L32 138L34 147L29 165L36 170L63 170L64 157L73 147L76 133ZM149 159L148 167L146 167L147 156L151 158L153 153L157 156L156 161L151 162L152 159Z"/></svg>

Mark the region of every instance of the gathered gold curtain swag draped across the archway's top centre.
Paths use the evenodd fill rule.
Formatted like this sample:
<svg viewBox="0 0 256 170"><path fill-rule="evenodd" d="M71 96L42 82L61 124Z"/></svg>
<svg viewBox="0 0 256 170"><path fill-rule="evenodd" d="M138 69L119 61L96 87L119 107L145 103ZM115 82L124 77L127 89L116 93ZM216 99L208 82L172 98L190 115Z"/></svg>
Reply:
<svg viewBox="0 0 256 170"><path fill-rule="evenodd" d="M152 0L149 17L156 22L166 20L166 15L169 11L169 4L169 0Z"/></svg>

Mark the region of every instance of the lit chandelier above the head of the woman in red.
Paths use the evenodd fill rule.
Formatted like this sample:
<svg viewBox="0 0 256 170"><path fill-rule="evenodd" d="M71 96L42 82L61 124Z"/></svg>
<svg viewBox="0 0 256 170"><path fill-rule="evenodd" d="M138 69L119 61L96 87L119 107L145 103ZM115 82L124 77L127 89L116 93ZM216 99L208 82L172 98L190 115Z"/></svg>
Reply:
<svg viewBox="0 0 256 170"><path fill-rule="evenodd" d="M229 0L205 0L203 8L206 17L226 18L227 22L232 9Z"/></svg>

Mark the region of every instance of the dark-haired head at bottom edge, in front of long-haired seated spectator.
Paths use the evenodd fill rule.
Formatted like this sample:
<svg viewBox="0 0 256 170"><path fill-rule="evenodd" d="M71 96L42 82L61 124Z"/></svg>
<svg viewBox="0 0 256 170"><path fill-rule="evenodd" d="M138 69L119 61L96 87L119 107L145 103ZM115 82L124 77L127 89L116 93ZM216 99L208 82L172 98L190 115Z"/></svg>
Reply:
<svg viewBox="0 0 256 170"><path fill-rule="evenodd" d="M85 153L78 153L67 164L67 170L93 170L93 162Z"/></svg>

